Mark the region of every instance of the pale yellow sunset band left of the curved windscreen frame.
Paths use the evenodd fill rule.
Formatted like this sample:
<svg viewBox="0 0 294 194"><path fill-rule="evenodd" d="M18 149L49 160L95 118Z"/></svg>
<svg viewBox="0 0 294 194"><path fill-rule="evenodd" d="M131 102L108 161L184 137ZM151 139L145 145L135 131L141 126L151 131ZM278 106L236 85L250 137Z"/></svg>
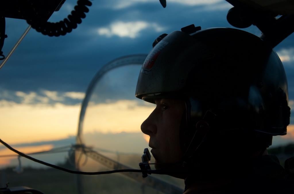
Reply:
<svg viewBox="0 0 294 194"><path fill-rule="evenodd" d="M61 139L75 135L80 105L0 101L1 138L8 143Z"/></svg>

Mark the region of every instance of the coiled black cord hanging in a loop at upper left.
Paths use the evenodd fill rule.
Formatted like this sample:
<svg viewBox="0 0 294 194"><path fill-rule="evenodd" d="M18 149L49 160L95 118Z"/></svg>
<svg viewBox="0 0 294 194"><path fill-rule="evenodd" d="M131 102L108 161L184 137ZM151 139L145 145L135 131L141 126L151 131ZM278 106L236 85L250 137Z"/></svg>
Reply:
<svg viewBox="0 0 294 194"><path fill-rule="evenodd" d="M37 32L41 32L48 36L60 36L70 33L73 29L77 28L77 25L82 23L82 18L86 17L85 13L89 12L87 6L91 6L92 3L89 0L78 0L77 5L71 14L64 18L64 20L52 23L44 21L38 15L38 11L32 1L19 0L21 13L26 19L27 23Z"/></svg>

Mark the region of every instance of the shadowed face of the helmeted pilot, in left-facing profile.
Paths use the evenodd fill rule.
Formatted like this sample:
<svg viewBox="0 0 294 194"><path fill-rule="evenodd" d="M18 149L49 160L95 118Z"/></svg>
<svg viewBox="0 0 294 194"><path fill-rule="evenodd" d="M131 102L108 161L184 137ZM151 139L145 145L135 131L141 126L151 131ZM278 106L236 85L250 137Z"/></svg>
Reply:
<svg viewBox="0 0 294 194"><path fill-rule="evenodd" d="M142 123L141 130L150 136L149 147L156 163L180 161L183 152L180 146L180 124L185 103L181 100L158 98L156 108ZM156 169L160 165L155 165Z"/></svg>

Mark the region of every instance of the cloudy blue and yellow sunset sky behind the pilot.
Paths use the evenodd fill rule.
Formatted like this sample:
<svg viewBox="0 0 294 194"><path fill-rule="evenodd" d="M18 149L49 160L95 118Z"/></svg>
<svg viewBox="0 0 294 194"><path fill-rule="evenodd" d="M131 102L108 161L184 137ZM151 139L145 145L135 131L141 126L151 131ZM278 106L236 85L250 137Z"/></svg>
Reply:
<svg viewBox="0 0 294 194"><path fill-rule="evenodd" d="M39 150L56 146L48 141L71 139L74 143L72 137L77 134L85 91L104 64L125 55L147 54L158 35L180 30L190 24L203 29L232 27L226 21L226 14L232 6L224 0L168 0L166 8L158 0L101 0L92 3L83 22L66 36L48 37L31 29L0 69L2 140L13 145L26 143L26 146L32 142L44 142L44 145L40 144ZM60 11L55 12L49 21L63 19L75 4L76 1L66 0ZM7 55L27 26L26 21L6 19L8 38L3 48L4 55ZM255 26L244 30L260 34ZM285 67L289 105L294 110L293 42L292 34L275 50ZM98 107L91 106L92 110L89 108L85 133L93 133L95 130L104 133L140 132L140 124L152 107L131 100L132 96L134 98L134 86L128 84L136 85L137 70L129 68L118 71L119 73L113 71L112 75L106 75L97 86L93 96L104 95L103 99L108 101L97 105ZM121 82L122 79L125 82ZM106 83L112 85L106 87ZM117 87L117 84L122 83L125 85ZM122 98L121 101L112 101L113 92ZM94 115L96 110L99 113ZM115 118L114 113L117 114ZM125 118L133 120L126 121ZM102 122L99 123L101 125L96 125L98 120L108 121L105 122L107 126L102 125ZM114 124L110 125L113 120ZM126 127L118 127L123 121L126 121ZM292 116L291 125L293 124ZM289 135L274 139L275 145L294 139L294 127L288 127L288 131ZM32 149L38 150L36 147Z"/></svg>

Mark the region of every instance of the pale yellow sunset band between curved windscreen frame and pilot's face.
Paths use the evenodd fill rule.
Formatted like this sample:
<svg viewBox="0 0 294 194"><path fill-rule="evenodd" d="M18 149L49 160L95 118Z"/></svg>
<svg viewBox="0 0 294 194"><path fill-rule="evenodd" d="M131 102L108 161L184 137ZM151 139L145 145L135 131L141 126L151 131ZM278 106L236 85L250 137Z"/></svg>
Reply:
<svg viewBox="0 0 294 194"><path fill-rule="evenodd" d="M138 99L90 104L83 121L83 132L140 132L142 122L154 110L155 105L151 105L142 105Z"/></svg>

